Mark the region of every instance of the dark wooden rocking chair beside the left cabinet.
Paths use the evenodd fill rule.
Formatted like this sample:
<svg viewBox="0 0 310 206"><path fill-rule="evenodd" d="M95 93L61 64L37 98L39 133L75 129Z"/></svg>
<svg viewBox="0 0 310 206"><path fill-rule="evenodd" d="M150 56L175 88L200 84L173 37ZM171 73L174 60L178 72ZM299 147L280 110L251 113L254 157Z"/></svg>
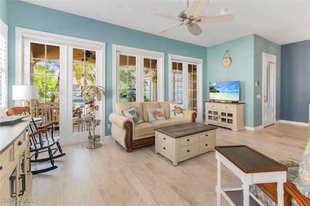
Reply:
<svg viewBox="0 0 310 206"><path fill-rule="evenodd" d="M20 114L28 115L30 114L30 111L31 110L29 107L17 106L17 107L8 108L5 112L7 116L12 116L12 115L20 115ZM31 173L35 175L35 174L44 173L44 172L56 169L57 166L54 165L54 159L64 156L65 153L62 153L62 147L60 146L60 143L59 143L60 137L54 136L54 125L58 125L58 122L51 122L47 125L38 127L32 117L31 117L31 121L34 126L34 129L30 126L30 129L31 129L30 152L33 152L33 154L30 157L30 162L50 161L50 163L52 164L51 167L41 169L41 170L31 171ZM47 136L47 129L51 131L50 137ZM57 147L52 148L55 145ZM59 151L60 154L54 156L57 151ZM38 159L39 153L42 153L42 152L48 152L48 158ZM34 157L34 159L31 160L32 157Z"/></svg>

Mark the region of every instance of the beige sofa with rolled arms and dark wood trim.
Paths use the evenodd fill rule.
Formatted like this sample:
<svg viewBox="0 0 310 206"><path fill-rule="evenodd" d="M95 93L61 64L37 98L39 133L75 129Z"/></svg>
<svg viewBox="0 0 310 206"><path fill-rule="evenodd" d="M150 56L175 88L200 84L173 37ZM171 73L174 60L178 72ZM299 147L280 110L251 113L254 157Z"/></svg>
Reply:
<svg viewBox="0 0 310 206"><path fill-rule="evenodd" d="M170 103L175 102L129 102L116 103L115 113L109 115L112 137L122 145L127 152L133 148L155 144L155 128L168 127L176 124L195 122L197 113L193 110L184 109L183 118L170 118ZM142 123L134 124L132 118L127 118L122 111L135 106L143 120ZM164 108L165 118L149 121L147 109Z"/></svg>

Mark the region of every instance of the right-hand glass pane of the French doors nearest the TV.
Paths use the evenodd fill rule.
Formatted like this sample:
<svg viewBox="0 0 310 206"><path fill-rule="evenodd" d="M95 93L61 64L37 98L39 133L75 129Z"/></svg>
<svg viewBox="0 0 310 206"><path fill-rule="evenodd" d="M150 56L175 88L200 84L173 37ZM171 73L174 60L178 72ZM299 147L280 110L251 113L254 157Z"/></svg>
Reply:
<svg viewBox="0 0 310 206"><path fill-rule="evenodd" d="M197 65L188 64L188 109L197 112Z"/></svg>

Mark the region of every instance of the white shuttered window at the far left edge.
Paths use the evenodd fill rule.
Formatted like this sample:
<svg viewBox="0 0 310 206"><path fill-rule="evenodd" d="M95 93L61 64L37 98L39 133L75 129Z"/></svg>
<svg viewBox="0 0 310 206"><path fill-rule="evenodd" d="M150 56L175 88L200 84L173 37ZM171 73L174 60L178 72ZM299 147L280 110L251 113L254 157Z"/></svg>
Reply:
<svg viewBox="0 0 310 206"><path fill-rule="evenodd" d="M0 19L0 114L8 107L8 26Z"/></svg>

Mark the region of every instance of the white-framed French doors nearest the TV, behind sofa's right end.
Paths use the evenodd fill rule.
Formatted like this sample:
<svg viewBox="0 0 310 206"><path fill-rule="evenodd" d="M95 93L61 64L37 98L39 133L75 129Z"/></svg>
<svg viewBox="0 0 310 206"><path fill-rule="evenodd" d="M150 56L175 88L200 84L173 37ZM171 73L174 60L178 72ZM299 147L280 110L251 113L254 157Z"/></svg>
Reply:
<svg viewBox="0 0 310 206"><path fill-rule="evenodd" d="M169 100L197 112L202 121L202 59L169 54Z"/></svg>

